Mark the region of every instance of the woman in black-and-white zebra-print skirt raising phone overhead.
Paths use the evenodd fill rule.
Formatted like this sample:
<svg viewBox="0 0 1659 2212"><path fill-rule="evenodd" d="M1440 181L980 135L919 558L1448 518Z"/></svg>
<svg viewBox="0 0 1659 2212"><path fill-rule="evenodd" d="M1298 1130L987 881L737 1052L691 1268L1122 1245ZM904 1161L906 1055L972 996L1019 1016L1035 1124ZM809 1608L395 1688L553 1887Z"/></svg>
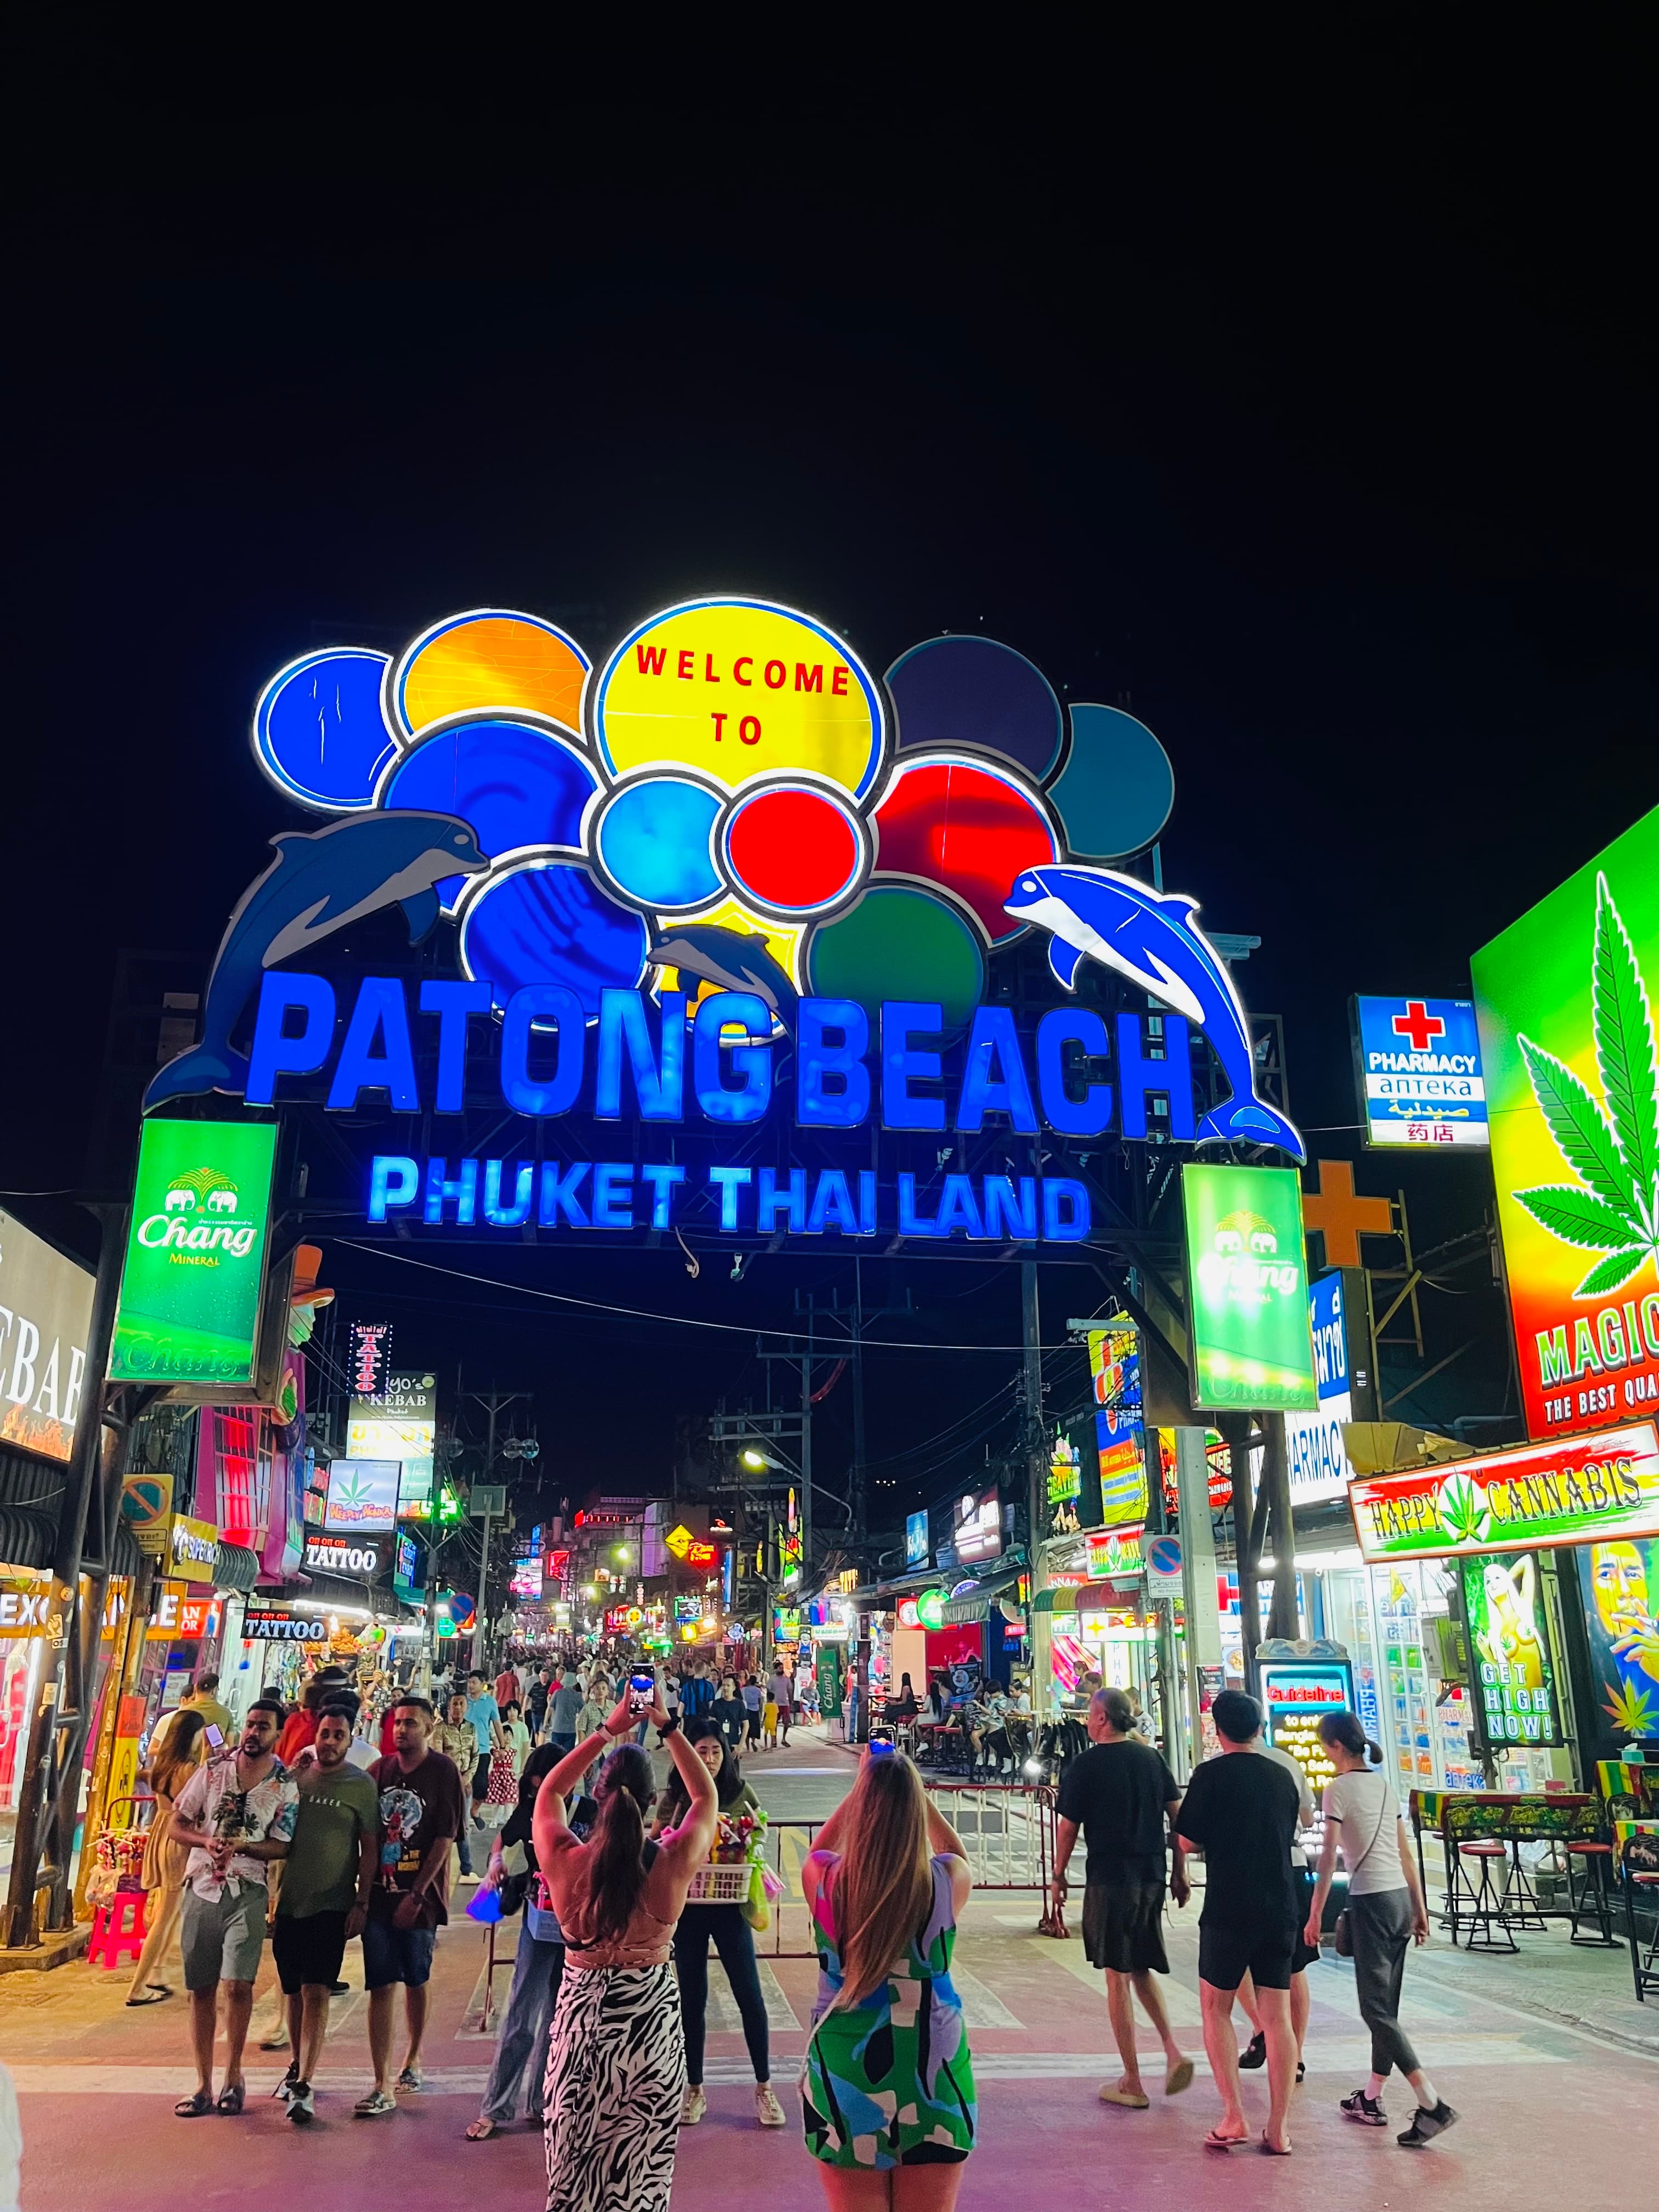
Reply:
<svg viewBox="0 0 1659 2212"><path fill-rule="evenodd" d="M628 1694L546 1776L535 1798L535 1863L564 1929L564 1982L546 2055L549 2212L668 2212L675 2185L686 2039L675 1982L675 1927L692 1874L714 1843L714 1776L653 1688L657 1725L690 1801L679 1827L646 1843L657 1796L630 1736ZM611 1752L593 1790L586 1843L564 1818L566 1794Z"/></svg>

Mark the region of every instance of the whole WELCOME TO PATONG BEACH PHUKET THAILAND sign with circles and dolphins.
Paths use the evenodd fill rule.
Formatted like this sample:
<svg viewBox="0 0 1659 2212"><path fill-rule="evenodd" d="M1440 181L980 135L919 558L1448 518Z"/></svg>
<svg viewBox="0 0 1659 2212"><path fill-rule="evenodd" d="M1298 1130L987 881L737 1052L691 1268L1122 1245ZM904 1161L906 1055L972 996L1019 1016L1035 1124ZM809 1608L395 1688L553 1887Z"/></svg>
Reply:
<svg viewBox="0 0 1659 2212"><path fill-rule="evenodd" d="M1110 867L1168 818L1164 748L1117 708L1062 706L1020 653L929 639L878 679L825 624L706 597L595 664L540 617L447 617L398 657L279 670L259 765L323 827L272 841L208 980L201 1040L146 1110L460 1113L480 1079L564 1115L741 1133L785 1113L834 1139L1150 1135L1303 1159L1256 1093L1250 1022L1194 902ZM314 947L385 909L447 927L451 973L321 973ZM991 989L1046 940L1055 1004ZM1077 998L1095 962L1146 1013ZM438 962L445 967L445 962ZM1230 1095L1194 1099L1192 1031ZM540 1150L540 1148L538 1148ZM684 1159L383 1150L372 1219L670 1228ZM860 1146L869 1159L869 1144ZM699 1164L721 1228L876 1234L863 1166ZM1082 1237L1068 1177L898 1177L902 1234ZM883 1201L885 1203L885 1201Z"/></svg>

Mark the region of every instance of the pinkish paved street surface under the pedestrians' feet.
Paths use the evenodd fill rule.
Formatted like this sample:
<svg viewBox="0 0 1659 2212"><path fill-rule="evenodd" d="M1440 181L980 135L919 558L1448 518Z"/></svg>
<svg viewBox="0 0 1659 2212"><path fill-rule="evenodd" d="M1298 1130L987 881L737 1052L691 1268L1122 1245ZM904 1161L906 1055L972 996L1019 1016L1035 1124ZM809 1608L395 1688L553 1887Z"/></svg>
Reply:
<svg viewBox="0 0 1659 2212"><path fill-rule="evenodd" d="M821 1818L849 1776L847 1752L796 1736L750 1761L750 1776L776 1818ZM785 1843L785 1867L794 1856ZM1073 1916L1075 1918L1075 1916ZM1462 2126L1411 2161L1387 2135L1347 2126L1336 2099L1367 2073L1367 2042L1354 2011L1352 1969L1323 1960L1312 1971L1314 2013L1307 2084L1292 2106L1296 2163L1250 2152L1206 2154L1214 2097L1203 2070L1197 2000L1197 1927L1170 1931L1170 2011L1199 2062L1192 2090L1155 2097L1150 2112L1110 2110L1097 2086L1115 2077L1099 1978L1082 1944L1033 1933L1031 1896L984 1889L958 1949L982 2093L982 2143L969 2163L962 2205L1006 2208L1042 2177L1044 2203L1152 2203L1179 2192L1197 2203L1383 2212L1405 2190L1433 2192L1460 2208L1531 2201L1540 2177L1571 2159L1582 2203L1630 2197L1632 2179L1659 2168L1659 2006L1637 2006L1624 1951L1568 1951L1564 1933L1524 1936L1520 1960L1469 1960L1438 1940L1407 1971L1405 2020ZM511 1924L504 1944L511 1944ZM781 1918L785 1953L805 1947L803 1913ZM250 2185L299 2190L305 2201L394 2201L398 2212L540 2205L540 2137L526 2128L489 2143L462 2141L491 2057L480 2033L484 1938L458 1920L438 1949L427 2088L394 2119L354 2121L367 2086L361 1989L334 2006L330 2057L319 2081L319 2126L292 2130L268 2090L285 2057L252 2053L254 2097L241 2119L175 2121L188 2093L184 2002L122 2008L124 1975L71 1966L51 1975L0 1978L0 2055L22 2095L27 2212L111 2205L159 2212L246 2205ZM347 1980L361 1980L356 1953ZM270 2026L270 1964L254 2026ZM737 2011L719 1969L710 1971L710 2115L681 2135L677 2212L821 2203L799 2132L763 2135L750 2112L748 2066ZM763 1986L772 2015L774 2077L792 2119L792 2081L805 2046L814 1969L805 1958L768 1955ZM504 1993L507 1973L498 1973ZM1150 2042L1150 2039L1148 2039ZM1148 2084L1157 2077L1148 2053ZM1265 2112L1265 2079L1248 2090ZM1391 2119L1409 2119L1400 2088ZM1312 2168L1312 2172L1310 2172Z"/></svg>

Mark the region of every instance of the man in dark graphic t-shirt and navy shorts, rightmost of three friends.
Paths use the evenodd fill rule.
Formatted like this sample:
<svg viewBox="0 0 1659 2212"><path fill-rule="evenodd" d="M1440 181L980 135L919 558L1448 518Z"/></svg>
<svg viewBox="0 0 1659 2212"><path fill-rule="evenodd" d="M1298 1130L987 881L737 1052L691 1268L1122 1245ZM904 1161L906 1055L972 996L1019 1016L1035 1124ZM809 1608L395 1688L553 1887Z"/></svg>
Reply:
<svg viewBox="0 0 1659 2212"><path fill-rule="evenodd" d="M396 2088L422 2088L420 2037L427 2033L431 1947L449 1920L449 1847L467 1820L456 1761L429 1750L434 1719L425 1697L400 1697L392 1714L392 1756L374 1770L374 1787L380 1792L380 1878L363 1927L374 2088L358 2099L358 2119L398 2110L392 2084L392 1991L398 1982L409 2051Z"/></svg>

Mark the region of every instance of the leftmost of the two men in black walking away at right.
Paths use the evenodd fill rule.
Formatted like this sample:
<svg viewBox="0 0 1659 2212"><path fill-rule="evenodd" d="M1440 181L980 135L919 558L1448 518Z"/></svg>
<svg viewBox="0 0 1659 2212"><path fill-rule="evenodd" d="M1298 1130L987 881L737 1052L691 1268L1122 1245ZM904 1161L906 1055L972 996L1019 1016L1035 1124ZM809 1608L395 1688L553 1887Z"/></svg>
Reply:
<svg viewBox="0 0 1659 2212"><path fill-rule="evenodd" d="M1124 1690L1095 1690L1088 1701L1091 1747L1073 1759L1060 1785L1060 1849L1055 1851L1055 1913L1066 1902L1066 1867L1082 1829L1088 1843L1084 1874L1084 1953L1091 1966L1106 1971L1106 2006L1117 2037L1124 2073L1117 2084L1102 2081L1102 2104L1121 2104L1144 2112L1150 2097L1141 2088L1141 2062L1135 2051L1135 2004L1157 2028L1164 2044L1164 2095L1179 2097L1192 2086L1192 2059L1170 2033L1155 1973L1168 1973L1164 1953L1164 1845L1175 1851L1170 1891L1177 1905L1188 1900L1181 1838L1175 1816L1181 1792L1159 1752L1133 1734L1135 1708Z"/></svg>

